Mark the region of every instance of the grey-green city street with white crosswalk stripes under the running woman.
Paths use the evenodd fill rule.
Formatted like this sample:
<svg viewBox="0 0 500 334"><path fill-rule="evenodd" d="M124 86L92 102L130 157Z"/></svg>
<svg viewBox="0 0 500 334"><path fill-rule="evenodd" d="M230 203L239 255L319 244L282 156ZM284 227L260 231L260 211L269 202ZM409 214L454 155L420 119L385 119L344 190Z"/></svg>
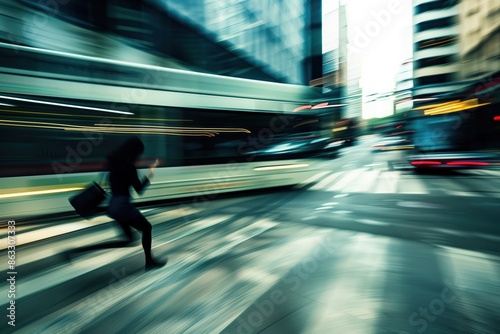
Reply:
<svg viewBox="0 0 500 334"><path fill-rule="evenodd" d="M155 271L139 243L75 251L107 217L19 227L16 333L498 333L500 171L417 174L377 140L293 189L143 208Z"/></svg>

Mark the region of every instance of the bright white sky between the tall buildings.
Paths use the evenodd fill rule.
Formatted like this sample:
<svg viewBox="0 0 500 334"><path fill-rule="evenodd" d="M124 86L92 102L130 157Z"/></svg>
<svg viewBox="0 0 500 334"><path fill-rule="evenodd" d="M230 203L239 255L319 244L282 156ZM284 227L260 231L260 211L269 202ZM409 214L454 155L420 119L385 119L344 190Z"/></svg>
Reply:
<svg viewBox="0 0 500 334"><path fill-rule="evenodd" d="M348 57L359 57L363 95L393 90L400 65L412 57L412 2L344 0L344 3L347 5ZM380 103L365 104L363 116L381 117L391 112L388 108L392 108L392 102Z"/></svg>

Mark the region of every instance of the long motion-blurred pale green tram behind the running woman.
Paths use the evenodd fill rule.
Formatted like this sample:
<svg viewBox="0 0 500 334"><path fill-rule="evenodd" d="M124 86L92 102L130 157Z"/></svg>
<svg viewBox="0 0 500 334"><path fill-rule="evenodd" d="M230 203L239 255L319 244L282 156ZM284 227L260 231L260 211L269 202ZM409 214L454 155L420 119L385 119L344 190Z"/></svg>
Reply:
<svg viewBox="0 0 500 334"><path fill-rule="evenodd" d="M322 115L311 87L0 43L2 218L72 211L127 136L160 166L137 202L294 185L317 173ZM300 143L300 145L295 145Z"/></svg>

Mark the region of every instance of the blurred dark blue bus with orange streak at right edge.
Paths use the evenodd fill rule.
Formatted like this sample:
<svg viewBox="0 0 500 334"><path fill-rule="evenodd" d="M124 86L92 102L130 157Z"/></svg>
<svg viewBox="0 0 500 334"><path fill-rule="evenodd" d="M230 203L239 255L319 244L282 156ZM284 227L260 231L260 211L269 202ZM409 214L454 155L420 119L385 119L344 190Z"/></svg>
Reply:
<svg viewBox="0 0 500 334"><path fill-rule="evenodd" d="M489 78L460 92L436 96L407 117L417 168L496 165L500 152L500 79Z"/></svg>

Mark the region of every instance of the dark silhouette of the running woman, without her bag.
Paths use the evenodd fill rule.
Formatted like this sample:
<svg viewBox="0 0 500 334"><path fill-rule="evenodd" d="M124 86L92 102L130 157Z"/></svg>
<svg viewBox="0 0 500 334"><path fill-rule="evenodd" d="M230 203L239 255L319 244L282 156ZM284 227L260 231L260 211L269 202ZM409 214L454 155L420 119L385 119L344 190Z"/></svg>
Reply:
<svg viewBox="0 0 500 334"><path fill-rule="evenodd" d="M142 141L138 137L131 137L107 156L111 187L108 216L120 224L129 243L133 241L131 227L142 233L146 270L150 270L162 267L166 262L158 261L151 255L152 226L131 202L130 187L133 187L138 194L142 194L158 165L156 160L146 177L140 180L135 163L143 152Z"/></svg>

